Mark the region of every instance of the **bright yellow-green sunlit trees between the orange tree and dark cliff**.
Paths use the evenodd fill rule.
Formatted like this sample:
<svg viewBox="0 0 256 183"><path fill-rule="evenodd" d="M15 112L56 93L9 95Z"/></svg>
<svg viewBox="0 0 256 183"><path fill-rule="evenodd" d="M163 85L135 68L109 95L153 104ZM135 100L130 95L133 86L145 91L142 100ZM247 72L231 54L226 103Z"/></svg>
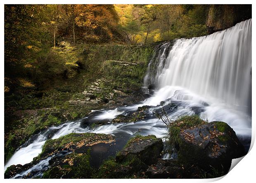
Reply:
<svg viewBox="0 0 256 183"><path fill-rule="evenodd" d="M115 5L129 44L205 35L208 5Z"/></svg>

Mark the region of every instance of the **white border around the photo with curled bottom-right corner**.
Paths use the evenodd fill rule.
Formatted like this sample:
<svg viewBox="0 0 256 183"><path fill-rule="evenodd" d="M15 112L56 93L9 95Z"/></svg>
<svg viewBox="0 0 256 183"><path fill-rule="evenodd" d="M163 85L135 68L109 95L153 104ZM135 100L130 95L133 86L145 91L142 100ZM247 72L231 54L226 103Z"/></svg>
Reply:
<svg viewBox="0 0 256 183"><path fill-rule="evenodd" d="M2 1L5 4L252 4L252 16L253 19L255 18L255 4L254 2L256 2L255 0L72 0L72 1L68 1L68 0L37 0L37 1L32 1L32 0L4 0ZM1 75L2 75L2 80L1 80L1 86L2 86L2 93L1 93L1 122L2 122L2 141L1 141L1 146L2 147L2 151L1 151L1 164L2 164L2 169L4 168L4 92L3 92L3 88L4 88L4 4L2 4L1 6L1 20L2 20L2 28L1 28L1 42L2 42L2 47L1 47ZM252 50L255 50L255 36L254 36L254 24L252 25ZM255 64L255 51L252 53L252 67L254 68ZM252 73L252 80L255 81L255 75L254 73ZM254 112L255 112L255 82L252 82L252 145L254 144L254 140L255 140L255 122L254 122ZM222 183L226 183L228 182L232 182L232 183L236 183L236 182L252 182L252 180L255 181L255 170L254 170L254 162L256 162L256 149L252 148L253 146L251 145L250 151L249 153L243 157L243 158L238 158L238 160L233 160L232 164L237 164L237 162L239 162L241 160L241 162L239 162L239 164L237 166L235 166L226 176L222 177L222 178L214 178L214 179L161 179L161 182L212 182L212 181L217 181L218 182L222 182ZM3 171L2 171L3 172ZM3 179L4 175L1 173L0 177ZM43 179L35 179L38 182L45 182L46 180ZM35 181L35 180L20 180L22 182L24 181ZM4 181L9 182L9 181L15 181L15 180L11 180L11 179L4 179ZM70 180L60 180L60 179L56 179L54 180L55 182L69 182ZM90 180L84 180L84 179L80 179L80 180L76 180L78 182L84 182L84 181L90 181L90 183L94 183L94 182L98 182L98 181L102 181L99 179L90 179ZM122 182L130 182L130 181L139 181L139 182L155 182L157 180L154 179L112 179L109 180L111 182L117 183L119 181Z"/></svg>

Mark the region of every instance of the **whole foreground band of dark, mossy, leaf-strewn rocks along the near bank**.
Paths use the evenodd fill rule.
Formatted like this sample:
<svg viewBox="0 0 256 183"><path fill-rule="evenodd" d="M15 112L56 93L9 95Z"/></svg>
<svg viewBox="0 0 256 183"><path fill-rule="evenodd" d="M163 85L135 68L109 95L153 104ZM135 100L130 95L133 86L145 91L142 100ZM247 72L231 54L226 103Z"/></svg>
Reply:
<svg viewBox="0 0 256 183"><path fill-rule="evenodd" d="M215 178L227 174L233 158L244 155L225 122L180 119L173 124L180 127L178 158L161 159L173 138L163 143L154 135L138 135L124 145L120 142L125 140L111 135L69 134L47 140L38 157L24 166L12 165L5 178Z"/></svg>

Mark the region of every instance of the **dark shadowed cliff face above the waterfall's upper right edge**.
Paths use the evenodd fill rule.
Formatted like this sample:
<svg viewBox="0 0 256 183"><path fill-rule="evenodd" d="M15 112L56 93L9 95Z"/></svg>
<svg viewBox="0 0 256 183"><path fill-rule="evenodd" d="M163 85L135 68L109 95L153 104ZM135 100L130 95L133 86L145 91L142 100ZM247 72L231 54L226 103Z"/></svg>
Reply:
<svg viewBox="0 0 256 183"><path fill-rule="evenodd" d="M206 26L208 33L214 33L250 18L251 5L210 5Z"/></svg>

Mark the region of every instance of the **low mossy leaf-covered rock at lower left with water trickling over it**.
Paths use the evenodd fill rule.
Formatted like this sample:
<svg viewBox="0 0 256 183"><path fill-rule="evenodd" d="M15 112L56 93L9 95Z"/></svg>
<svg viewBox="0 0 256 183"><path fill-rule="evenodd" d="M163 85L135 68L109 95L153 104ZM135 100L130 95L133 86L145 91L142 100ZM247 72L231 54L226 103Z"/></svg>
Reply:
<svg viewBox="0 0 256 183"><path fill-rule="evenodd" d="M68 134L47 140L40 155L31 163L8 167L5 178L16 174L20 174L17 178L92 178L93 170L100 167L104 159L115 155L117 149L115 137L111 135ZM33 168L37 165L40 169ZM79 173L78 169L83 171Z"/></svg>

